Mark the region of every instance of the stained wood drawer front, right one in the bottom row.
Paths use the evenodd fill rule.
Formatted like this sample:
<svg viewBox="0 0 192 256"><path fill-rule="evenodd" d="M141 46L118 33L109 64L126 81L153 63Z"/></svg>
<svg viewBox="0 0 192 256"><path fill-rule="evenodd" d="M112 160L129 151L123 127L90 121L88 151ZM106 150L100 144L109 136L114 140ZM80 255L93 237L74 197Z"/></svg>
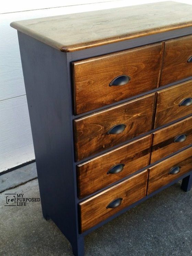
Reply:
<svg viewBox="0 0 192 256"><path fill-rule="evenodd" d="M192 170L192 147L169 157L149 169L148 194ZM175 174L170 174L175 172Z"/></svg>

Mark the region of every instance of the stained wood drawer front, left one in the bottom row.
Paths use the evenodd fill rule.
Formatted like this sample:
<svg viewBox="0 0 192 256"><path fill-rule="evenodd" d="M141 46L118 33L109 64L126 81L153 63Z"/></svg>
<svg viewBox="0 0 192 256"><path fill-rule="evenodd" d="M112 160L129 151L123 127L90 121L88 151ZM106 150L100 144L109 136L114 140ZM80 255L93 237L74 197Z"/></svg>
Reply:
<svg viewBox="0 0 192 256"><path fill-rule="evenodd" d="M81 202L79 204L80 232L90 229L128 205L145 197L147 177L148 170L145 170Z"/></svg>

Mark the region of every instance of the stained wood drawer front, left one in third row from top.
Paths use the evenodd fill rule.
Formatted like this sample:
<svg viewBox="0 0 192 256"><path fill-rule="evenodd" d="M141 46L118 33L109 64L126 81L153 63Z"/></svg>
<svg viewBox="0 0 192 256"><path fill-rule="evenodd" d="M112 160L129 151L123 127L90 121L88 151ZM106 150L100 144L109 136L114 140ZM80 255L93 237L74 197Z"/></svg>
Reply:
<svg viewBox="0 0 192 256"><path fill-rule="evenodd" d="M78 196L83 198L149 164L152 135L77 165Z"/></svg>

